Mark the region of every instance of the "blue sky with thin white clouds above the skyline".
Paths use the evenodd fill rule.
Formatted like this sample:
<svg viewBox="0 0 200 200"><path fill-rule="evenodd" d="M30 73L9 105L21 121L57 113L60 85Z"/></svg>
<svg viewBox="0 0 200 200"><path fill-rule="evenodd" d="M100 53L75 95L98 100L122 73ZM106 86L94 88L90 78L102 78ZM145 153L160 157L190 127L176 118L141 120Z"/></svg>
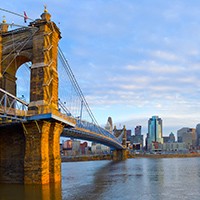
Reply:
<svg viewBox="0 0 200 200"><path fill-rule="evenodd" d="M146 134L158 115L169 135L200 123L199 0L9 0L1 8L37 19L44 5L99 124L111 116Z"/></svg>

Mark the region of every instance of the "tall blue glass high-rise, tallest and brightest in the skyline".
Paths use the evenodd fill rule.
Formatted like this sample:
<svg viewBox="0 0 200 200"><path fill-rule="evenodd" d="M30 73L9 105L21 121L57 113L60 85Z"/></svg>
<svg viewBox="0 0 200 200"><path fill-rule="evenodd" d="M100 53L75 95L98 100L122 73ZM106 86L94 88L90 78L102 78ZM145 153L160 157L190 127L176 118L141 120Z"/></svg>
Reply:
<svg viewBox="0 0 200 200"><path fill-rule="evenodd" d="M152 143L155 145L163 144L162 137L162 119L158 116L152 116L148 121L148 146L150 147Z"/></svg>

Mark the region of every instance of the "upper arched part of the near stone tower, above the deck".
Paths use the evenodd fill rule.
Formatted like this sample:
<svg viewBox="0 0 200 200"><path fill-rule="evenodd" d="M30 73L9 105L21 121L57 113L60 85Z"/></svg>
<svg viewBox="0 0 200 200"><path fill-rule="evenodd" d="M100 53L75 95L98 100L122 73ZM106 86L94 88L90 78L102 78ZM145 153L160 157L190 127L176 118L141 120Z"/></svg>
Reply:
<svg viewBox="0 0 200 200"><path fill-rule="evenodd" d="M28 27L8 31L0 27L0 88L16 96L16 71L31 62L29 110L37 114L58 110L58 42L61 38L51 15L44 10L41 19Z"/></svg>

